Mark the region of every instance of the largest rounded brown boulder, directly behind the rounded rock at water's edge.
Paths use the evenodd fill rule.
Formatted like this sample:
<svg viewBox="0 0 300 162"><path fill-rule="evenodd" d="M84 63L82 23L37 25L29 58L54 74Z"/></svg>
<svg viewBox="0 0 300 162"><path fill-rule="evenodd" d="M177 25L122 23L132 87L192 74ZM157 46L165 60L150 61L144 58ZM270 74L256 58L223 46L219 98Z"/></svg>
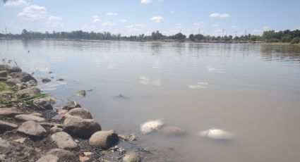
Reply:
<svg viewBox="0 0 300 162"><path fill-rule="evenodd" d="M100 131L101 126L95 120L71 116L64 120L64 131L73 137L89 138L94 132Z"/></svg>

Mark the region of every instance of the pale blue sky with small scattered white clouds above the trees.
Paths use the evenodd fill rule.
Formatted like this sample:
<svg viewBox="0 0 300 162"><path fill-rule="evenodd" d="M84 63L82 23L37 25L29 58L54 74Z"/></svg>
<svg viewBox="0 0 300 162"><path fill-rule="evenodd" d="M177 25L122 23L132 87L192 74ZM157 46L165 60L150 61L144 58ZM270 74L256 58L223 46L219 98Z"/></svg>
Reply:
<svg viewBox="0 0 300 162"><path fill-rule="evenodd" d="M9 0L0 32L112 32L121 35L261 35L300 29L299 0Z"/></svg>

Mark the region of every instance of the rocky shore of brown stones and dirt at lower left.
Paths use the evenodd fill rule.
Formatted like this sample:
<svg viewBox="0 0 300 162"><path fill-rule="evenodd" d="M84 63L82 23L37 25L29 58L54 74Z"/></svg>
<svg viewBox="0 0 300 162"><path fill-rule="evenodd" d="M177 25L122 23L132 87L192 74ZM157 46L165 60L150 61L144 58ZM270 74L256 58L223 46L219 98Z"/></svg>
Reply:
<svg viewBox="0 0 300 162"><path fill-rule="evenodd" d="M76 101L55 101L29 73L0 65L0 161L141 161L137 149L117 146L136 135L102 130Z"/></svg>

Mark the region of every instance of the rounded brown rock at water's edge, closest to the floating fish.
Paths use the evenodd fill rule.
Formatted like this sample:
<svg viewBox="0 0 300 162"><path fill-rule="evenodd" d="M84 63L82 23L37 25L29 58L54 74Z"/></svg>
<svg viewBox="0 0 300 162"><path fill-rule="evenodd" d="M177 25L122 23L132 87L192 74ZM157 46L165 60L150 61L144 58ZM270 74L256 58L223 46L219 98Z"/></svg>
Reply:
<svg viewBox="0 0 300 162"><path fill-rule="evenodd" d="M101 147L102 149L109 149L119 142L119 137L113 130L98 131L92 134L89 144L92 146Z"/></svg>

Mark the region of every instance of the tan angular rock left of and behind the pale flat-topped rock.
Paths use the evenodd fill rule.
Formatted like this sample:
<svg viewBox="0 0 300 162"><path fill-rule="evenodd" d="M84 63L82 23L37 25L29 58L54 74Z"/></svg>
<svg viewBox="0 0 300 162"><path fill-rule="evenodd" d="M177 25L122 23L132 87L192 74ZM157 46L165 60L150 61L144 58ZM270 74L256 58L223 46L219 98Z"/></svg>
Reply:
<svg viewBox="0 0 300 162"><path fill-rule="evenodd" d="M46 130L35 121L27 121L18 127L18 132L28 135L30 138L41 138L46 134Z"/></svg>

